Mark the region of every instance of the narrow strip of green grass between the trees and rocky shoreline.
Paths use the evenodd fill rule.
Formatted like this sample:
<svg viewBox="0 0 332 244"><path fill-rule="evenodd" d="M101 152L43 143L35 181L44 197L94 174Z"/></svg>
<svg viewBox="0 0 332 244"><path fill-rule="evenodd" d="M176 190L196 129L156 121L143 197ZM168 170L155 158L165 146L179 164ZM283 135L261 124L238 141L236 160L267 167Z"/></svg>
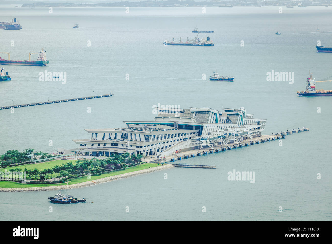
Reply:
<svg viewBox="0 0 332 244"><path fill-rule="evenodd" d="M68 160L57 160L57 161L68 161ZM70 160L69 160L70 161ZM62 163L61 163L62 164ZM55 164L56 165L56 164ZM129 172L134 172L138 170L142 170L144 168L154 168L157 166L161 166L161 164L152 164L152 163L144 163L136 166L132 166L129 168L126 168L125 170L118 170L118 171L112 171L110 173L104 173L101 175L92 175L91 179L88 179L87 176L82 176L77 178L77 181L75 179L71 179L71 181L68 182L68 185L73 185L81 182L86 182L86 181L93 181L113 175L120 175L124 173L129 173ZM53 166L54 167L54 166ZM46 167L48 168L48 167ZM0 188L22 188L22 187L44 187L44 186L60 186L60 185L67 185L67 183L61 183L61 184L22 184L22 183L17 183L17 182L10 182L10 181L0 181Z"/></svg>

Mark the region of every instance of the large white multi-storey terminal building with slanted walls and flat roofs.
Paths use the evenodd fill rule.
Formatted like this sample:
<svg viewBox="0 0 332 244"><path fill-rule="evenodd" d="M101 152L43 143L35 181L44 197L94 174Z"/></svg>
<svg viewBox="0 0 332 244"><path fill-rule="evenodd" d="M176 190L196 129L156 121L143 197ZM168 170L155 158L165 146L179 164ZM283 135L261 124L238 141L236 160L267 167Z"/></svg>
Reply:
<svg viewBox="0 0 332 244"><path fill-rule="evenodd" d="M129 153L165 157L178 150L213 148L260 136L265 119L245 109L157 109L154 121L127 121L124 128L85 129L89 139L73 140L86 156Z"/></svg>

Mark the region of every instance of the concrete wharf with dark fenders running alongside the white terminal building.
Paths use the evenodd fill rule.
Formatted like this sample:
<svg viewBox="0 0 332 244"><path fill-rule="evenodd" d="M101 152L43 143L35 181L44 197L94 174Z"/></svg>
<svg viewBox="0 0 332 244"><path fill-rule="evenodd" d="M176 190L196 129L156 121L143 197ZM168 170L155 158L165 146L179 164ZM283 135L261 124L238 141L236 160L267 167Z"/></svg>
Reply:
<svg viewBox="0 0 332 244"><path fill-rule="evenodd" d="M261 135L259 137L253 138L252 140L246 139L246 140L241 141L240 143L227 144L227 146L218 145L218 146L214 146L213 149L209 149L209 148L194 149L194 150L190 150L190 151L180 152L180 153L177 153L176 155L167 156L162 159L157 159L157 160L152 159L152 160L150 160L150 163L170 162L172 164L173 162L180 161L183 159L189 159L189 158L194 158L197 156L207 155L210 153L217 153L220 151L231 150L231 149L235 149L235 148L239 148L239 147L245 147L245 146L256 145L256 144L265 143L265 142L269 142L269 141L280 140L280 139L286 138L286 135L289 135L292 133L308 131L308 130L309 130L309 128L304 127L301 129L299 128L299 129L294 129L291 131L288 130L285 132L276 133L275 135ZM183 164L183 163L181 163L181 164ZM174 166L176 166L176 165L174 164Z"/></svg>

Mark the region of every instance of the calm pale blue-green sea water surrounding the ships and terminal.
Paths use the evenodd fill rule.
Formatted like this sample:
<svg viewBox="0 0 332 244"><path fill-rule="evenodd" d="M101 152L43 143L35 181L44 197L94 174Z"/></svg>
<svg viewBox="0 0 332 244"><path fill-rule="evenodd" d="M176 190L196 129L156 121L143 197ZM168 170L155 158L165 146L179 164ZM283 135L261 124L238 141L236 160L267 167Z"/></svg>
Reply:
<svg viewBox="0 0 332 244"><path fill-rule="evenodd" d="M44 47L50 63L4 66L12 80L0 82L0 106L94 93L115 96L18 108L15 113L2 110L0 153L75 148L72 139L88 137L84 128L153 120L152 106L158 103L244 107L254 118L267 119L265 134L310 127L287 136L283 146L269 142L188 161L216 165L215 170L173 168L64 191L93 204L50 204L47 198L55 191L0 193L3 219L331 220L332 100L298 97L296 91L305 89L309 70L318 80L331 75L331 54L317 53L315 45L319 40L332 46L332 8L284 7L282 14L278 7L207 7L206 14L201 7L130 8L128 14L124 7L53 8L52 14L40 7L1 8L2 21L16 17L23 29L0 30L0 50L20 60ZM72 29L75 23L79 29ZM172 37L193 39L196 25L214 30L207 35L215 46L163 46ZM275 35L277 31L283 35ZM32 54L32 60L37 55ZM0 56L7 58L5 53ZM66 72L66 84L39 81L45 69ZM214 70L233 75L235 81L202 80ZM266 73L272 70L294 72L294 83L267 81ZM332 84L317 83L317 89L332 90ZM228 181L227 172L233 169L255 171L255 184Z"/></svg>

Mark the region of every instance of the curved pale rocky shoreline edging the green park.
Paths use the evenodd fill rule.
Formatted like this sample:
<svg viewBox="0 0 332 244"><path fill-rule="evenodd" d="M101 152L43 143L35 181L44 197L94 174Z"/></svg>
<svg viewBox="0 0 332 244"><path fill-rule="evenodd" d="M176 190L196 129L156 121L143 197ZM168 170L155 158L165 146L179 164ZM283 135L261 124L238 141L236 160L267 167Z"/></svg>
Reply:
<svg viewBox="0 0 332 244"><path fill-rule="evenodd" d="M62 185L61 186L46 186L46 187L26 187L26 188L0 188L0 192L31 192L31 191L49 191L49 190L65 190L65 189L71 189L71 188L77 188L77 187L86 187L86 186L93 186L99 183L104 182L110 182L115 181L122 178L127 178L135 175L145 174L145 173L151 173L157 170L163 170L163 169L170 169L174 166L172 164L165 164L160 165L154 168L148 168L148 169L142 169L134 172L124 173L121 175L115 175L115 176L109 176L93 181L86 181L81 182L73 185Z"/></svg>

